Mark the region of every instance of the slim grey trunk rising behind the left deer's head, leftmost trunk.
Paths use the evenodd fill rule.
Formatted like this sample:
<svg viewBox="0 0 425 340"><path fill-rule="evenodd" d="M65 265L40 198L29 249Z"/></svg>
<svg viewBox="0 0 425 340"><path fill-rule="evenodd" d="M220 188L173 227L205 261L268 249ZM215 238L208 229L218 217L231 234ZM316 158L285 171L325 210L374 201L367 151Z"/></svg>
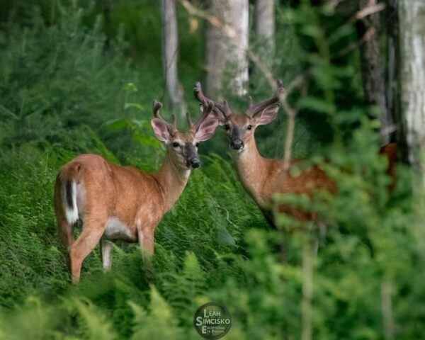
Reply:
<svg viewBox="0 0 425 340"><path fill-rule="evenodd" d="M186 111L183 89L177 74L179 37L177 31L176 0L162 0L162 66L166 90L174 111Z"/></svg>

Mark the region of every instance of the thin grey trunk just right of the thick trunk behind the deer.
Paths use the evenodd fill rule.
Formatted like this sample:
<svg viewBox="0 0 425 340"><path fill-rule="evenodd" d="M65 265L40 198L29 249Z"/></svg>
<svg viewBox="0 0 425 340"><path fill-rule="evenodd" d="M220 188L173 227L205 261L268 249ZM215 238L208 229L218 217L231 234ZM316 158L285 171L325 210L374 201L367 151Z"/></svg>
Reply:
<svg viewBox="0 0 425 340"><path fill-rule="evenodd" d="M260 53L264 62L271 66L274 55L275 33L275 4L274 0L256 0L255 4L255 31L259 42Z"/></svg>

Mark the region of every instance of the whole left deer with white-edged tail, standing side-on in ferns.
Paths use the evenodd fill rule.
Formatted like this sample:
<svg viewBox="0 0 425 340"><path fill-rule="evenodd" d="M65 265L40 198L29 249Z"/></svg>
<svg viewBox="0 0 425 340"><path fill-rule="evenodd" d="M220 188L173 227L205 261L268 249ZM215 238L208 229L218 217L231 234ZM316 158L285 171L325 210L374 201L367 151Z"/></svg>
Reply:
<svg viewBox="0 0 425 340"><path fill-rule="evenodd" d="M117 166L96 154L81 154L65 164L55 184L55 212L60 238L69 250L72 282L78 283L82 261L101 241L104 268L111 267L110 241L139 242L148 255L154 252L154 230L179 198L192 168L200 165L199 142L208 140L218 121L205 106L196 123L187 114L189 130L182 133L159 115L154 101L151 120L155 136L165 143L162 168L146 174L132 166ZM74 225L82 222L76 241Z"/></svg>

